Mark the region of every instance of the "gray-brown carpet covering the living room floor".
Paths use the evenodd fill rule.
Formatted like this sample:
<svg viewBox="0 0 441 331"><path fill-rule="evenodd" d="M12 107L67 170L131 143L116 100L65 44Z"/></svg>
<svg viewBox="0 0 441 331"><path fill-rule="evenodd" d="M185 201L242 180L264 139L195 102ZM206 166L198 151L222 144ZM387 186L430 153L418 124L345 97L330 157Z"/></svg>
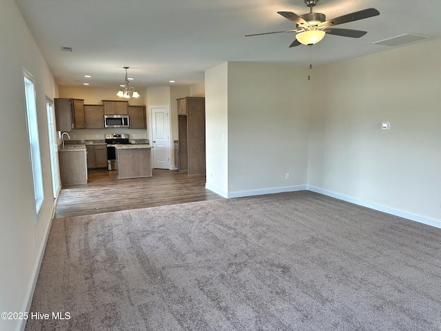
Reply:
<svg viewBox="0 0 441 331"><path fill-rule="evenodd" d="M56 219L25 330L441 330L440 248L307 191Z"/></svg>

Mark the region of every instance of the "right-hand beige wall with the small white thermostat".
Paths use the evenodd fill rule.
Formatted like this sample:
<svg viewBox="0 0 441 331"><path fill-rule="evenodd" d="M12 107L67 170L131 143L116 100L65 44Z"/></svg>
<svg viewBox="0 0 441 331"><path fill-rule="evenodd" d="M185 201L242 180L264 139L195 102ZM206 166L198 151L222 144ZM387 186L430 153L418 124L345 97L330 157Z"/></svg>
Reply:
<svg viewBox="0 0 441 331"><path fill-rule="evenodd" d="M440 50L428 41L316 69L309 185L441 222Z"/></svg>

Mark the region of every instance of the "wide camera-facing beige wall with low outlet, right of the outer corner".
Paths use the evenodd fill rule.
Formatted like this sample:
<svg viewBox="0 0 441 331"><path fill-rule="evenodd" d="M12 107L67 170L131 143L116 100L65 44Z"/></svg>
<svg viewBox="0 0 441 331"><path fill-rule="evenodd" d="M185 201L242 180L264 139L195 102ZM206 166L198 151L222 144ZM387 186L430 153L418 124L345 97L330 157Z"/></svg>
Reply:
<svg viewBox="0 0 441 331"><path fill-rule="evenodd" d="M308 90L305 68L229 63L229 194L306 185Z"/></svg>

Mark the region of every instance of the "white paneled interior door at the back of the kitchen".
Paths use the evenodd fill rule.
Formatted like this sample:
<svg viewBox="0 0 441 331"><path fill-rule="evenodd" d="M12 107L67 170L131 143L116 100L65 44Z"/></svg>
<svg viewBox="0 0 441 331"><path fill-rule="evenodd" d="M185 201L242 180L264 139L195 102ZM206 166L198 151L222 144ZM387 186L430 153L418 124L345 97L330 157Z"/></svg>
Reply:
<svg viewBox="0 0 441 331"><path fill-rule="evenodd" d="M152 158L153 168L171 169L172 147L170 144L170 108L150 107L152 114Z"/></svg>

